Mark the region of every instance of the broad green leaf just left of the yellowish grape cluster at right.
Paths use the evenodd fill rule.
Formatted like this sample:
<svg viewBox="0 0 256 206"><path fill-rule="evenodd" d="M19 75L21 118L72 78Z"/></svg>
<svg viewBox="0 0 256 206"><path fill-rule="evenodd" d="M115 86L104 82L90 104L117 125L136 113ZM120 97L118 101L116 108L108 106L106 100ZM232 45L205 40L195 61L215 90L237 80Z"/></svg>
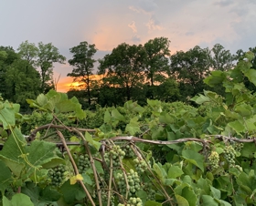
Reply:
<svg viewBox="0 0 256 206"><path fill-rule="evenodd" d="M182 151L182 156L192 164L196 165L200 170L204 171L204 156L197 153L197 151L186 149Z"/></svg>

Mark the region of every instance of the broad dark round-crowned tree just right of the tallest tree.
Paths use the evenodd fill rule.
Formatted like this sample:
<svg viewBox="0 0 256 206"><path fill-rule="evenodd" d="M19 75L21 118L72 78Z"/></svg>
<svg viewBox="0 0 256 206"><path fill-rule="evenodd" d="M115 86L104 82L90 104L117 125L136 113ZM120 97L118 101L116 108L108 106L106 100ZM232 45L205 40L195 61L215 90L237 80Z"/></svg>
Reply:
<svg viewBox="0 0 256 206"><path fill-rule="evenodd" d="M187 52L177 51L170 57L171 74L180 83L180 94L184 100L194 97L205 87L203 79L210 68L208 48L195 46Z"/></svg>

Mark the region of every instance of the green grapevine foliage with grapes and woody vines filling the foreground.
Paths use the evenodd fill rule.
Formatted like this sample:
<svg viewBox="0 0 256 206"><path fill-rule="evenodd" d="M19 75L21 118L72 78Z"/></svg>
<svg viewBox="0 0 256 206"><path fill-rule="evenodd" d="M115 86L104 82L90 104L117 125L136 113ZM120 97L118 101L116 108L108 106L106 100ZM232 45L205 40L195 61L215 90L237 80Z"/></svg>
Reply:
<svg viewBox="0 0 256 206"><path fill-rule="evenodd" d="M1 98L0 205L255 205L253 57L212 71L204 82L225 96L204 90L198 108L147 99L92 112L50 90L23 116Z"/></svg>

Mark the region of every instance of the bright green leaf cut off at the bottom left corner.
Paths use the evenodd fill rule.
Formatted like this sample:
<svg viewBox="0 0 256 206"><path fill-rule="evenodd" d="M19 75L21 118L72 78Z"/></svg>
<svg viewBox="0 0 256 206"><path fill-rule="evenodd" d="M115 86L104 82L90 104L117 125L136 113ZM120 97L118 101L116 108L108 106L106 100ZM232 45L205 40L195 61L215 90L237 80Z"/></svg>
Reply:
<svg viewBox="0 0 256 206"><path fill-rule="evenodd" d="M3 206L34 206L33 202L30 201L30 198L26 194L16 193L12 200L9 201L5 196L3 198Z"/></svg>

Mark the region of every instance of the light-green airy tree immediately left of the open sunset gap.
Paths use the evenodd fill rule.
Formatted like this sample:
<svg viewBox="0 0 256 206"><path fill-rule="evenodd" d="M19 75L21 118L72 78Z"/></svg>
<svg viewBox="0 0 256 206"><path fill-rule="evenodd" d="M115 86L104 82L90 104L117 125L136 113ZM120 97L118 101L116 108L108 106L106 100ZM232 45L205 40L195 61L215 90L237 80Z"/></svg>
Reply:
<svg viewBox="0 0 256 206"><path fill-rule="evenodd" d="M59 49L51 43L38 43L37 67L40 68L41 92L45 92L49 82L53 82L53 63L64 64L66 57L59 54Z"/></svg>

